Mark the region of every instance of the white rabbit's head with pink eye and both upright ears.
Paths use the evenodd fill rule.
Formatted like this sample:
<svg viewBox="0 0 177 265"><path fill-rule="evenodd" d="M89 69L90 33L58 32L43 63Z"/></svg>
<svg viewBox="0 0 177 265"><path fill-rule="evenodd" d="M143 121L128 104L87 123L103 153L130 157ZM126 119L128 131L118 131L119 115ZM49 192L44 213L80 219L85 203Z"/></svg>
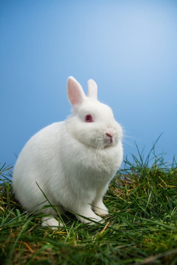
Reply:
<svg viewBox="0 0 177 265"><path fill-rule="evenodd" d="M117 145L122 128L116 122L111 108L97 100L97 85L89 80L87 97L81 85L73 78L67 80L67 96L72 113L67 119L72 137L93 148L104 149Z"/></svg>

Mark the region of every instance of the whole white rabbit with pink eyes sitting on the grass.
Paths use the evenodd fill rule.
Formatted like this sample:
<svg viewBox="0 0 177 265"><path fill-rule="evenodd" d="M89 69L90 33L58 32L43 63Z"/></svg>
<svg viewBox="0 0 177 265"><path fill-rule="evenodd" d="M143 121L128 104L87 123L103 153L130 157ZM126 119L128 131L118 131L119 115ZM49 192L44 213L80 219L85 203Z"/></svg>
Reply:
<svg viewBox="0 0 177 265"><path fill-rule="evenodd" d="M68 77L67 96L73 114L43 128L26 143L14 168L12 186L16 199L28 211L50 205L42 190L60 214L70 210L83 223L91 222L89 218L92 224L108 214L103 196L122 163L122 129L111 108L97 100L94 80L88 81L86 97L81 85ZM42 217L42 226L57 229L54 209L42 212L50 214Z"/></svg>

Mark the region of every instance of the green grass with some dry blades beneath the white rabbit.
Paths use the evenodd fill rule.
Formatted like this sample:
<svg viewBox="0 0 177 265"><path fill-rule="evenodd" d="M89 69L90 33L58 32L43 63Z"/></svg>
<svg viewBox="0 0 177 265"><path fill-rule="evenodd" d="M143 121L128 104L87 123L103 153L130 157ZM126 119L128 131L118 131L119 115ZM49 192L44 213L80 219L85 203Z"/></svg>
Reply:
<svg viewBox="0 0 177 265"><path fill-rule="evenodd" d="M42 228L41 215L23 212L4 165L1 264L177 264L177 164L164 163L154 149L146 159L138 150L138 158L117 172L104 197L105 223L83 225L67 213L58 231Z"/></svg>

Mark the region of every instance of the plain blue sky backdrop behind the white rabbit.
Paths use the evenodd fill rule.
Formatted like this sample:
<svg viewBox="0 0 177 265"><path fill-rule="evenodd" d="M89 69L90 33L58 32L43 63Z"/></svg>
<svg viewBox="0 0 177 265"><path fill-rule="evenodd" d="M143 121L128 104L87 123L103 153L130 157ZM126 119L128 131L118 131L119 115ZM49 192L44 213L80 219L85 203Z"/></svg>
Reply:
<svg viewBox="0 0 177 265"><path fill-rule="evenodd" d="M0 1L0 162L71 107L66 80L94 79L145 153L176 154L177 1ZM133 138L124 153L137 154Z"/></svg>

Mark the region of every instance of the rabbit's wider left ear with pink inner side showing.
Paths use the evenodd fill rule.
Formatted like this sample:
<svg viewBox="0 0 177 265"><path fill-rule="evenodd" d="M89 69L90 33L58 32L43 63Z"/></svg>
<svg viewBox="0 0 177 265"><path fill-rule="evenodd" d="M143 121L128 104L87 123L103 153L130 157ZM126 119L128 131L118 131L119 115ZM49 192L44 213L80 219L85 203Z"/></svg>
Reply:
<svg viewBox="0 0 177 265"><path fill-rule="evenodd" d="M67 79L66 90L68 101L70 102L73 109L77 110L86 97L81 85L74 77L70 76Z"/></svg>

